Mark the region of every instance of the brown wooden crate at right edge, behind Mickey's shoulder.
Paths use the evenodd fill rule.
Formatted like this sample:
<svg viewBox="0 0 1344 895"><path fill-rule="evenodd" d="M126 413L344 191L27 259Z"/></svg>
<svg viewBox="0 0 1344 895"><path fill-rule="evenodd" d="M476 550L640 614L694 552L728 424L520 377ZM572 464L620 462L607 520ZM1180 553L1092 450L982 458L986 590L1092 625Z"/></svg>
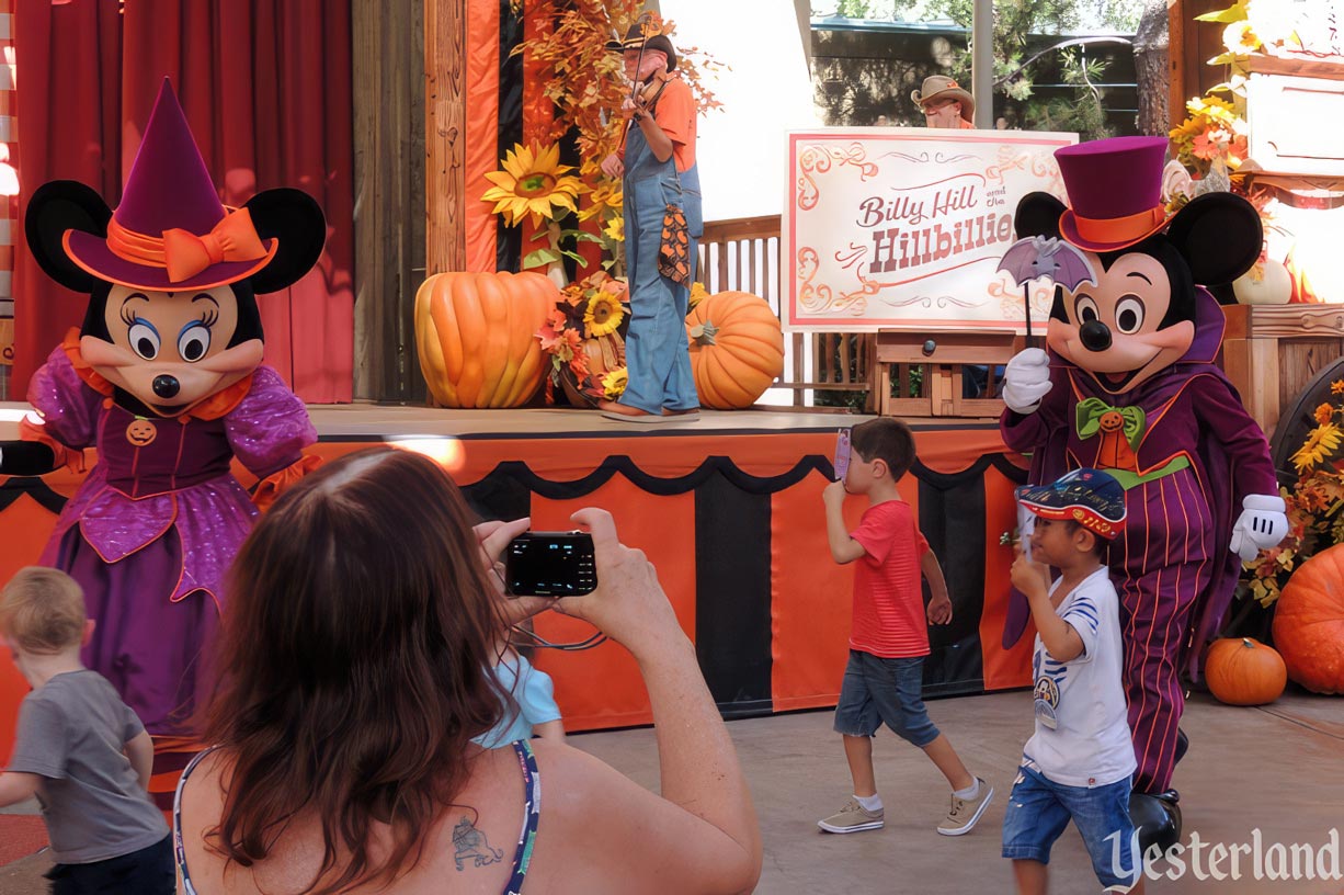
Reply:
<svg viewBox="0 0 1344 895"><path fill-rule="evenodd" d="M1304 386L1344 356L1344 305L1228 305L1223 313L1223 372L1271 433Z"/></svg>

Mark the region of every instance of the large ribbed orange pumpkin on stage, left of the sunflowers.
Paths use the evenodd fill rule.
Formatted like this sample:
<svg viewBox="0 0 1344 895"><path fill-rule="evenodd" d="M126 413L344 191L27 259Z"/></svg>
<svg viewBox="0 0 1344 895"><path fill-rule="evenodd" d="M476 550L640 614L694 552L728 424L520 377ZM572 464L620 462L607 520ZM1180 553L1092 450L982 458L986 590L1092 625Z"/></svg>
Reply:
<svg viewBox="0 0 1344 895"><path fill-rule="evenodd" d="M548 364L536 331L560 290L538 273L441 273L415 293L415 348L444 407L517 407Z"/></svg>

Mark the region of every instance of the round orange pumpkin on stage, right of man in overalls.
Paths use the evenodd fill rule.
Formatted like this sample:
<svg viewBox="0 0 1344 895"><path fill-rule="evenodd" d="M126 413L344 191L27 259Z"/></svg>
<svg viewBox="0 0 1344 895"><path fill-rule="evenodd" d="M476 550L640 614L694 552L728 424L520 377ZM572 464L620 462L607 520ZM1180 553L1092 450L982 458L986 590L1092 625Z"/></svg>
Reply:
<svg viewBox="0 0 1344 895"><path fill-rule="evenodd" d="M685 327L691 374L706 407L750 407L784 372L780 318L759 296L715 293L695 306Z"/></svg>

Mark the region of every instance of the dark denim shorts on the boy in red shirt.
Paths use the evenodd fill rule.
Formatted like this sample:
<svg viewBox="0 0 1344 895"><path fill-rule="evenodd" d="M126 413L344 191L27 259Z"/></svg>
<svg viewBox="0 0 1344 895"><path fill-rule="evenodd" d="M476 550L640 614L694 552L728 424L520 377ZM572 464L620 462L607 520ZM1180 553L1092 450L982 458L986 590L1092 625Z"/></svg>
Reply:
<svg viewBox="0 0 1344 895"><path fill-rule="evenodd" d="M880 658L849 650L840 684L835 731L845 736L872 736L883 723L896 735L923 749L938 739L923 699L923 656Z"/></svg>

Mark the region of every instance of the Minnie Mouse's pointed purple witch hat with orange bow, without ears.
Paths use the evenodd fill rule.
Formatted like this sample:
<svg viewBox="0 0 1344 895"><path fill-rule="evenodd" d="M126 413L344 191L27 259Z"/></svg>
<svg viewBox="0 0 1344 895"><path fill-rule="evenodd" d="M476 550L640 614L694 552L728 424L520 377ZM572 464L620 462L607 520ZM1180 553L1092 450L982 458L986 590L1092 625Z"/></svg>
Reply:
<svg viewBox="0 0 1344 895"><path fill-rule="evenodd" d="M250 277L271 262L280 241L258 237L247 208L219 200L165 78L106 235L67 230L62 245L99 280L175 290Z"/></svg>

